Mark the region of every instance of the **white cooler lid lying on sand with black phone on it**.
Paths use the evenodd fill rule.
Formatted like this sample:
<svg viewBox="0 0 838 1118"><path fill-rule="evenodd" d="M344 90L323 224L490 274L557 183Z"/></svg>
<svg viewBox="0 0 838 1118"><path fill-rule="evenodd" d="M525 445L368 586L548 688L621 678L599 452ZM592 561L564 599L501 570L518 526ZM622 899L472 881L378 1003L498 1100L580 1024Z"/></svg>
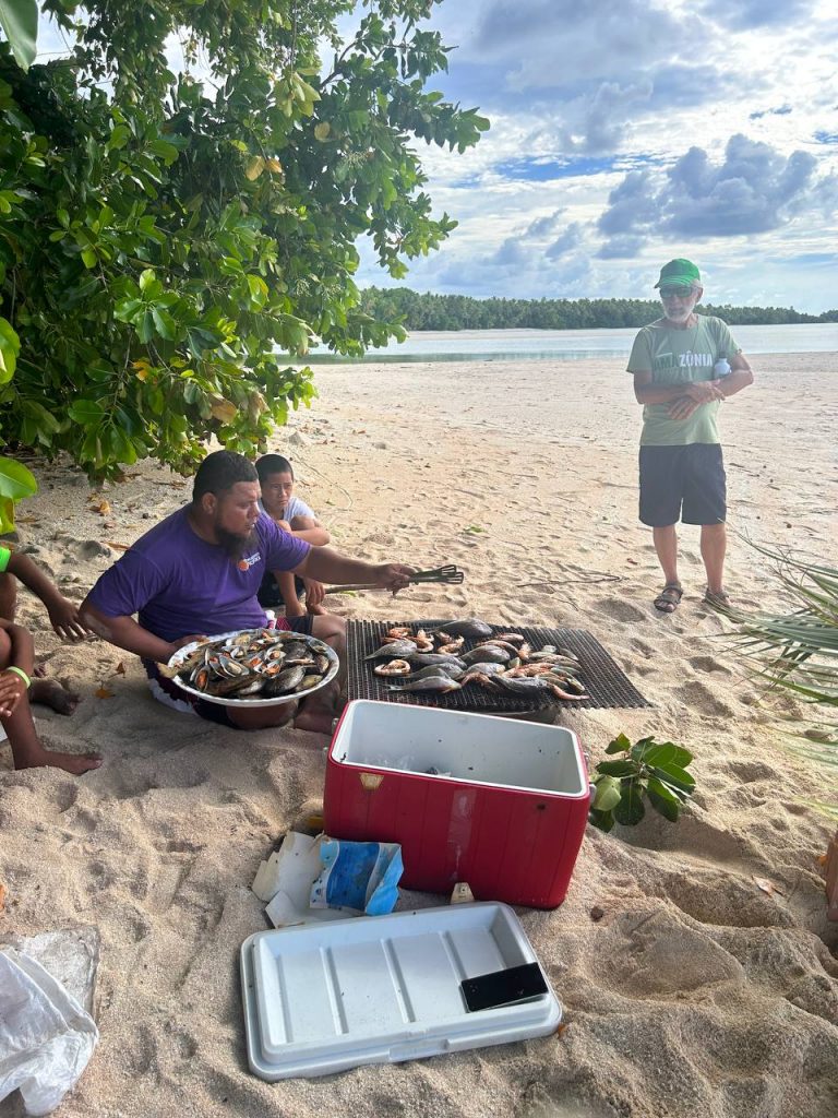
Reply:
<svg viewBox="0 0 838 1118"><path fill-rule="evenodd" d="M460 982L537 961L495 902L261 931L241 945L250 1069L267 1080L327 1076L554 1032L552 989L469 1013Z"/></svg>

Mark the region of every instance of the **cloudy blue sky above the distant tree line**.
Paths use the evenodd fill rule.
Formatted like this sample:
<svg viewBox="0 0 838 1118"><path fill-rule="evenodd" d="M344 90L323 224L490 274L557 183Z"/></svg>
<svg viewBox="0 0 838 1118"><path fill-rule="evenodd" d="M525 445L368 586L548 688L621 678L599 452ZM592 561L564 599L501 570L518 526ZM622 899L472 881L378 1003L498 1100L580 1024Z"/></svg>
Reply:
<svg viewBox="0 0 838 1118"><path fill-rule="evenodd" d="M832 0L442 0L429 26L456 48L429 87L492 129L421 144L459 225L400 285L649 297L686 256L706 302L838 306Z"/></svg>

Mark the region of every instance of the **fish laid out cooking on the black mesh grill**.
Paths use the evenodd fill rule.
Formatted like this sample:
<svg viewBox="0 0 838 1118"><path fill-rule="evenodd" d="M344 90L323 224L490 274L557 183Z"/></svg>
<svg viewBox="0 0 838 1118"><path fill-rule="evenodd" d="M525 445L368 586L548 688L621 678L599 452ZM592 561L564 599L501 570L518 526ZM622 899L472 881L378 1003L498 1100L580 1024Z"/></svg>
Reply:
<svg viewBox="0 0 838 1118"><path fill-rule="evenodd" d="M463 652L467 639L476 643ZM445 694L475 684L512 695L589 698L572 652L551 644L531 648L521 633L495 633L476 617L428 631L391 628L365 659L383 661L373 671L396 681L389 691Z"/></svg>

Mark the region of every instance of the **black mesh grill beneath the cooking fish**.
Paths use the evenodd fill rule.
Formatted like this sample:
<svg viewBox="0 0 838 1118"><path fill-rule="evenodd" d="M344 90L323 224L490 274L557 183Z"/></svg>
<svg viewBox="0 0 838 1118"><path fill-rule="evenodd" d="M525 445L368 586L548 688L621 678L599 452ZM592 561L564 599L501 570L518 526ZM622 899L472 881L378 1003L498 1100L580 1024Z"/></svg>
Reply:
<svg viewBox="0 0 838 1118"><path fill-rule="evenodd" d="M496 693L469 683L461 691L448 691L445 694L426 694L421 691L410 691L398 694L388 691L388 683L399 680L375 675L373 661L364 661L371 652L381 645L381 637L394 626L407 626L412 632L419 628L442 628L444 620L427 622L368 622L347 618L346 620L346 693L349 699L378 699L384 702L408 703L413 707L437 707L442 710L468 710L485 713L516 713L533 710L544 710L547 707L598 708L600 710L618 707L650 707L637 688L626 678L599 641L584 629L551 629L541 626L493 625L494 633L508 633L512 628L526 637L533 650L545 644L561 645L579 657L580 681L584 683L590 699L573 702L545 693L542 695L510 695ZM467 639L463 651L467 652L477 644Z"/></svg>

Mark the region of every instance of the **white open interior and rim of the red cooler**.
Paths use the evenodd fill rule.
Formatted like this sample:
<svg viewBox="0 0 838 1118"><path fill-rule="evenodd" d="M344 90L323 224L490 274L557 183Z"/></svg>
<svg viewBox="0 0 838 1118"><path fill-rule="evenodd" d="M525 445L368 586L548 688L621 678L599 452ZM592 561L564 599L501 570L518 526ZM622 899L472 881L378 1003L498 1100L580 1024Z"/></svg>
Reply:
<svg viewBox="0 0 838 1118"><path fill-rule="evenodd" d="M504 788L582 798L589 794L577 736L562 726L511 722L432 707L359 699L332 742L339 765L393 769ZM445 776L440 774L445 773Z"/></svg>

